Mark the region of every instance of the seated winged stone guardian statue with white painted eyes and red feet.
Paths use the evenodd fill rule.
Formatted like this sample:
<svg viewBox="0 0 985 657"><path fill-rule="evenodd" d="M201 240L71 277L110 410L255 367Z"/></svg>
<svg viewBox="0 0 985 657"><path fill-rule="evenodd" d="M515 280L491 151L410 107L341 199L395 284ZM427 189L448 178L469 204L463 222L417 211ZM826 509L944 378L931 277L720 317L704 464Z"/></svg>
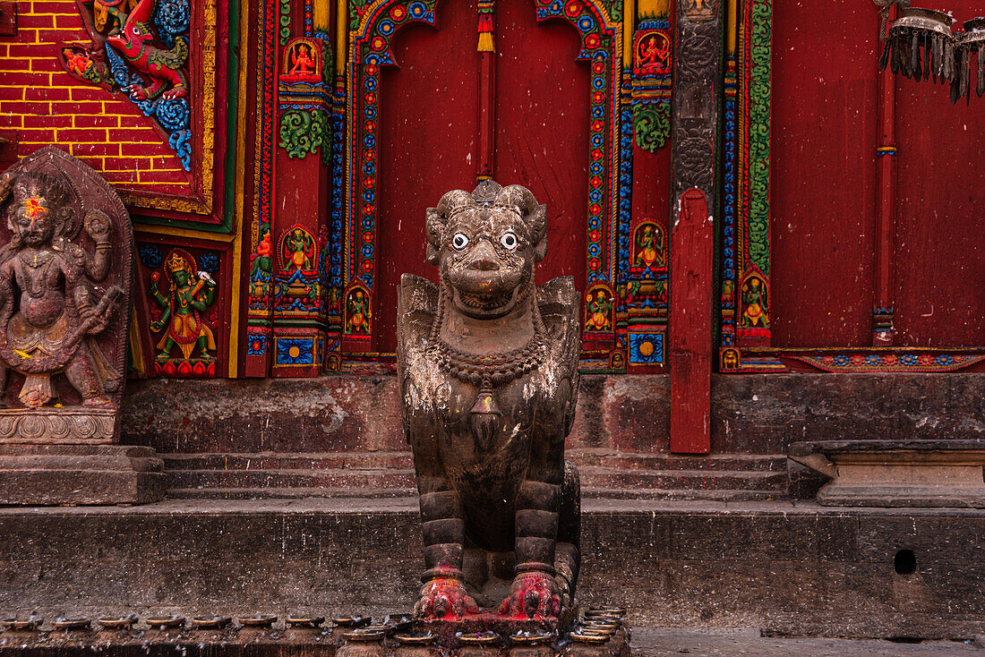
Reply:
<svg viewBox="0 0 985 657"><path fill-rule="evenodd" d="M572 607L580 493L564 437L580 297L571 277L534 285L545 216L519 185L450 191L427 211L438 285L401 281L397 364L423 521L423 620L480 605L514 619Z"/></svg>

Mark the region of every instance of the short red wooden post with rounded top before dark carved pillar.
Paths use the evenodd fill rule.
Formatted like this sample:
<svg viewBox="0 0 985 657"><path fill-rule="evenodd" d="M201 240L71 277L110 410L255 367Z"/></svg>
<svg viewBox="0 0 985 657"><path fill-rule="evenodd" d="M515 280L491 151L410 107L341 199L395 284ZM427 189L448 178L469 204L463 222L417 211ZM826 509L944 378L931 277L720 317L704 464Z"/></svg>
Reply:
<svg viewBox="0 0 985 657"><path fill-rule="evenodd" d="M715 233L704 193L681 195L671 230L671 451L711 451L711 322Z"/></svg>

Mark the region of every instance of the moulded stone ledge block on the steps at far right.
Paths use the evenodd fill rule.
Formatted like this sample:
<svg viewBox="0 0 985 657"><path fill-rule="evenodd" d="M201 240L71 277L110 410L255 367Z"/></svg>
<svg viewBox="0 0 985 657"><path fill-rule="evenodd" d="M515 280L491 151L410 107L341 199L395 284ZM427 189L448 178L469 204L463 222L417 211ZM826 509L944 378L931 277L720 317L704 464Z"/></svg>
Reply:
<svg viewBox="0 0 985 657"><path fill-rule="evenodd" d="M797 442L790 458L831 478L824 506L985 508L985 444L973 440Z"/></svg>

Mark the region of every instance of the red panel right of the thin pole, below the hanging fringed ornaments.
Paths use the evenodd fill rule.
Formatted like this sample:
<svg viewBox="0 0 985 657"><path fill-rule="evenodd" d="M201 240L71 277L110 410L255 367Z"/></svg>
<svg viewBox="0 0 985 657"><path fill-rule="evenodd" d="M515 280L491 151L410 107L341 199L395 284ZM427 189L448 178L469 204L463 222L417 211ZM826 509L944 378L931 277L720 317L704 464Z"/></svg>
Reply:
<svg viewBox="0 0 985 657"><path fill-rule="evenodd" d="M981 0L951 0L958 21ZM973 80L973 79L972 79ZM896 81L896 344L985 345L985 99Z"/></svg>

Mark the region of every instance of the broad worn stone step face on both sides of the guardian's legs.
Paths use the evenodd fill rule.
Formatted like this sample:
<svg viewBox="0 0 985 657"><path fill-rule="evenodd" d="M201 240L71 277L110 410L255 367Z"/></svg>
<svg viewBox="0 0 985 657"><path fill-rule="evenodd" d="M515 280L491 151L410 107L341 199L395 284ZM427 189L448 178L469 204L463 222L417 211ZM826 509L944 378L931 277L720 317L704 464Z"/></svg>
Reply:
<svg viewBox="0 0 985 657"><path fill-rule="evenodd" d="M985 510L589 499L583 605L634 627L985 633ZM0 615L406 613L416 498L0 509Z"/></svg>

